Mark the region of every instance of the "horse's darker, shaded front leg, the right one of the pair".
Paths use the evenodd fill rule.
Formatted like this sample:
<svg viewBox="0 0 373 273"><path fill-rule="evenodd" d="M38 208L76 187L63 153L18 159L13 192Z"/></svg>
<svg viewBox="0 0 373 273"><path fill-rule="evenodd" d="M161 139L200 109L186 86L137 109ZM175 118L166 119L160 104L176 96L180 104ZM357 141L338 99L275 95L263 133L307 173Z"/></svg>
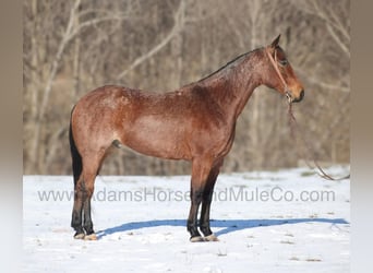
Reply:
<svg viewBox="0 0 373 273"><path fill-rule="evenodd" d="M205 236L205 240L207 241L217 241L218 238L213 234L210 226L209 226L209 210L210 204L213 201L213 194L214 194L214 186L216 182L216 179L219 175L220 167L222 166L222 159L217 162L214 167L212 168L206 187L203 191L202 195L202 210L201 210L201 219L200 219L200 229Z"/></svg>

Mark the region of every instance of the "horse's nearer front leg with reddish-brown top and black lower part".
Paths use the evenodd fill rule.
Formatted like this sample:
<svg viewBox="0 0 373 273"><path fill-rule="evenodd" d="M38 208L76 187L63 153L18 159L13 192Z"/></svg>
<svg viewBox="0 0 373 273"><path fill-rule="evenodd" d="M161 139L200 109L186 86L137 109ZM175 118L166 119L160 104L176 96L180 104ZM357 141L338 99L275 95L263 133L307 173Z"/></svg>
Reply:
<svg viewBox="0 0 373 273"><path fill-rule="evenodd" d="M188 232L191 234L191 241L204 241L198 232L197 215L210 168L212 164L209 161L202 158L193 159L191 179L191 210L186 224Z"/></svg>

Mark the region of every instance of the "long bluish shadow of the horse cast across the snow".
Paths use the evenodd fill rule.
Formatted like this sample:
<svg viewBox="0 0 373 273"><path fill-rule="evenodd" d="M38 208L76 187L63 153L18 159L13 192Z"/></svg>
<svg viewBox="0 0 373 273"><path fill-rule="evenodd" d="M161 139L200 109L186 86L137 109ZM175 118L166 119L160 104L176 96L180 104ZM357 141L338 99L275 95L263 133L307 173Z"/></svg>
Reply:
<svg viewBox="0 0 373 273"><path fill-rule="evenodd" d="M246 228L255 228L261 226L278 226L278 225L294 225L301 223L326 223L332 225L337 224L349 224L344 218L289 218L289 219L212 219L210 226L212 228L222 228L216 233L216 236L220 236L224 234L229 234ZM186 228L185 219L154 219L154 221L144 221L144 222L131 222L125 223L120 226L110 227L104 230L99 230L97 233L98 239L116 234L116 233L124 233L129 230L135 230L140 228L147 227L158 227L158 226L182 226Z"/></svg>

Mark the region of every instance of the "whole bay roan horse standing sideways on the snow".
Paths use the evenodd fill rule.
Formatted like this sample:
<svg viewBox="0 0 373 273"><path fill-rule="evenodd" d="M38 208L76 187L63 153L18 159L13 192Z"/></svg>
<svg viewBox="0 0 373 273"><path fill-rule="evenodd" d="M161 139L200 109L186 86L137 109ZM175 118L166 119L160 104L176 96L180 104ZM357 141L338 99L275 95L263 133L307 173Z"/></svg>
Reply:
<svg viewBox="0 0 373 273"><path fill-rule="evenodd" d="M264 84L286 95L289 103L304 95L278 41L279 36L173 92L109 85L82 97L70 121L74 237L96 239L91 218L95 178L110 147L125 145L145 155L192 163L186 224L191 241L217 240L209 227L214 185L232 146L237 118L251 94Z"/></svg>

